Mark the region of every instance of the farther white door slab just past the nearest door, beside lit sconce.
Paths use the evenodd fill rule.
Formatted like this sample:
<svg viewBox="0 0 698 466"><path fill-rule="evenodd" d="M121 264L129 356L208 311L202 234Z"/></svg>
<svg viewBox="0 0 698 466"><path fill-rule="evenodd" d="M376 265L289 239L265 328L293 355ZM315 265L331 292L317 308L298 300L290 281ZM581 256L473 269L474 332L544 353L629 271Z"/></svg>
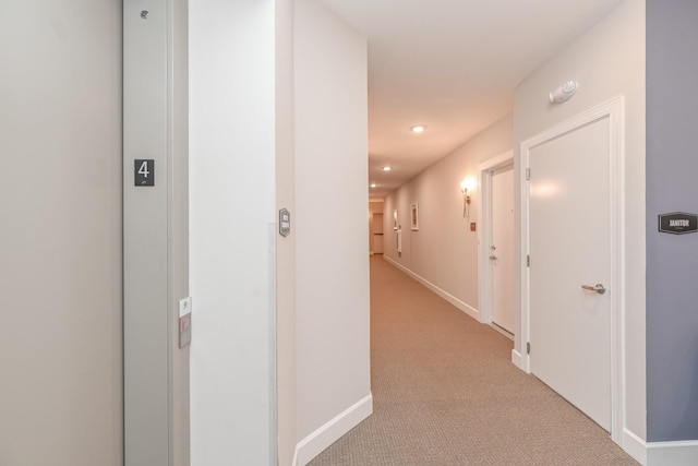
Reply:
<svg viewBox="0 0 698 466"><path fill-rule="evenodd" d="M492 322L514 333L514 166L492 172Z"/></svg>

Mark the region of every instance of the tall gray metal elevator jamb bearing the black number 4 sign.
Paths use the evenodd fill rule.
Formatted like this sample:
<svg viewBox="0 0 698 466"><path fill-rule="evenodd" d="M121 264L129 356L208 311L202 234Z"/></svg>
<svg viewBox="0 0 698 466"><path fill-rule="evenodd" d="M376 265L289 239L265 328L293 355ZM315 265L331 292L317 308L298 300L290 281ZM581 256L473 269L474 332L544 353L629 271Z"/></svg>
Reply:
<svg viewBox="0 0 698 466"><path fill-rule="evenodd" d="M171 457L168 0L123 4L124 457L129 466ZM136 158L155 160L155 186L134 186Z"/></svg>

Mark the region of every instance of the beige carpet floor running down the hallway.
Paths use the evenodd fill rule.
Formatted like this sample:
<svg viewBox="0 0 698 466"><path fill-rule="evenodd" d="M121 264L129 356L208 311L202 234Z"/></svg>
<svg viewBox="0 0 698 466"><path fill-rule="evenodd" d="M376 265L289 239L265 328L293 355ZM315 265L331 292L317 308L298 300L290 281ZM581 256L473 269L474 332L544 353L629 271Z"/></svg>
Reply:
<svg viewBox="0 0 698 466"><path fill-rule="evenodd" d="M371 259L374 414L311 466L637 465L513 342Z"/></svg>

